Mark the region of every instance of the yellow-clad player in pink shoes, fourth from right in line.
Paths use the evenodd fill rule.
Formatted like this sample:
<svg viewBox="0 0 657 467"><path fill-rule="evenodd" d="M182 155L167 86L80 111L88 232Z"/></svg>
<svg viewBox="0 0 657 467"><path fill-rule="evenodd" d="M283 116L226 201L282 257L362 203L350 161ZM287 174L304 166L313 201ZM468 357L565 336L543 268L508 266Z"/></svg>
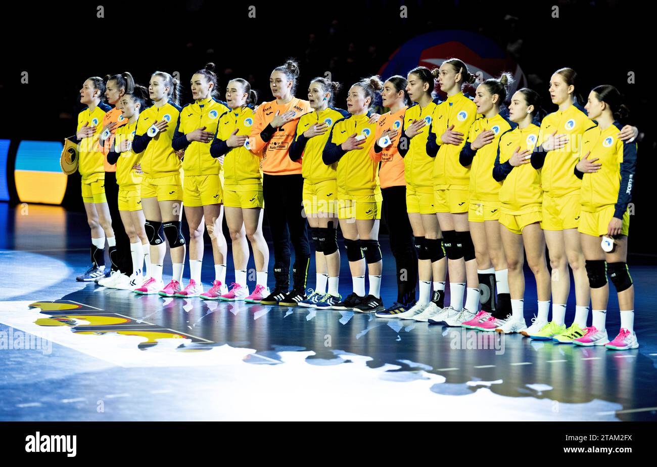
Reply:
<svg viewBox="0 0 657 467"><path fill-rule="evenodd" d="M474 97L477 113L482 116L470 126L467 142L459 158L462 166L470 167L468 222L474 243L480 297L472 297L460 316L446 318L448 326L463 324L465 327L477 326L481 330L493 331L511 314L509 270L499 241L501 184L493 178L499 138L516 126L499 113L507 99L507 89L511 82L512 76L509 73L501 74L499 79L490 78L477 87ZM480 301L482 311L478 312ZM484 324L479 326L484 320Z"/></svg>

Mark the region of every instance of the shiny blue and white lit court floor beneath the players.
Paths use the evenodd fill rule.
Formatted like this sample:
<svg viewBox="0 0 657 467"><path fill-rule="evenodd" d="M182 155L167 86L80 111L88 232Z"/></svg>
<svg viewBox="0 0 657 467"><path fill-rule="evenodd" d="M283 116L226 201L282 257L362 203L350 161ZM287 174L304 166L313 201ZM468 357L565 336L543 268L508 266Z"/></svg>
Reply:
<svg viewBox="0 0 657 467"><path fill-rule="evenodd" d="M656 267L632 269L641 347L613 353L350 311L76 283L88 260L83 215L25 210L0 204L0 420L657 418ZM392 256L381 243L385 272ZM207 286L208 248L206 259ZM535 303L530 276L526 303ZM382 295L394 300L390 275ZM614 332L613 297L609 308Z"/></svg>

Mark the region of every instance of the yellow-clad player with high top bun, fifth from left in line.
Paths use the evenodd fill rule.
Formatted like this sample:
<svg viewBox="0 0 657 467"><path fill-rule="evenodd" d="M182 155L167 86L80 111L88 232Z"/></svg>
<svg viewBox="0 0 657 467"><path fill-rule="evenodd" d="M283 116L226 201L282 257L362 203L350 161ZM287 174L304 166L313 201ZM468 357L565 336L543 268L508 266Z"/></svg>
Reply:
<svg viewBox="0 0 657 467"><path fill-rule="evenodd" d="M217 75L214 63L208 63L192 75L191 91L194 102L180 111L171 146L185 151L183 159L183 204L189 225L189 283L177 290L176 297L198 297L204 292L201 283L203 264L203 233L208 226L215 280L226 282L226 239L223 236L223 188L219 174L221 163L210 154L210 145L217 133L219 117L229 111L218 101ZM204 224L205 222L205 224Z"/></svg>

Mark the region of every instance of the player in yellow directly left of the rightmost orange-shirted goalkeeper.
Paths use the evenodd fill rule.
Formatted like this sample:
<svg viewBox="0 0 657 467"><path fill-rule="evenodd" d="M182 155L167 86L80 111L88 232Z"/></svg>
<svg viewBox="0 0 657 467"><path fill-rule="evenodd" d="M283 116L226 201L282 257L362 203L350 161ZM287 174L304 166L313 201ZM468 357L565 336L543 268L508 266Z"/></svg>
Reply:
<svg viewBox="0 0 657 467"><path fill-rule="evenodd" d="M338 218L353 282L353 293L333 305L335 310L373 313L384 309L380 295L380 207L375 195L378 164L369 155L376 127L370 122L369 108L382 89L383 83L378 76L365 78L351 86L347 97L350 116L334 124L322 153L325 164L338 163ZM365 295L366 262L369 268L368 295Z"/></svg>

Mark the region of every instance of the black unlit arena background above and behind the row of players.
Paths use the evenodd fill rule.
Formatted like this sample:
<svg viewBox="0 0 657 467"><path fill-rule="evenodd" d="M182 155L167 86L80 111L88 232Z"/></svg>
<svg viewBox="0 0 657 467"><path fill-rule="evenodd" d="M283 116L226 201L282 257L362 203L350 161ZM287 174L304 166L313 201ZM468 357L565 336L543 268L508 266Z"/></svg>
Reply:
<svg viewBox="0 0 657 467"><path fill-rule="evenodd" d="M411 37L442 29L479 32L493 39L522 67L530 86L543 97L551 74L562 66L579 73L578 91L613 84L625 96L631 123L639 127L639 163L629 248L635 261L657 262L652 240L652 61L654 7L634 1L351 1L304 2L190 0L177 3L112 2L97 18L94 3L34 5L23 2L3 14L0 50L0 138L12 140L8 172L20 139L61 140L75 132L78 89L89 76L128 70L147 84L154 70L177 71L181 103L191 101L187 86L194 71L217 64L219 89L231 78L248 80L271 100L269 74L287 57L300 62L296 95L304 98L309 80L332 72L346 85L376 74ZM248 7L256 7L256 18ZM408 18L399 18L399 7ZM552 17L553 6L559 18ZM5 7L3 7L5 8ZM648 10L649 9L649 10ZM28 84L21 73L28 72ZM628 72L635 84L627 83ZM387 78L383 76L382 78ZM336 97L344 103L346 88ZM77 178L76 178L77 176ZM12 202L18 202L8 177ZM71 176L64 206L83 210L79 175Z"/></svg>

